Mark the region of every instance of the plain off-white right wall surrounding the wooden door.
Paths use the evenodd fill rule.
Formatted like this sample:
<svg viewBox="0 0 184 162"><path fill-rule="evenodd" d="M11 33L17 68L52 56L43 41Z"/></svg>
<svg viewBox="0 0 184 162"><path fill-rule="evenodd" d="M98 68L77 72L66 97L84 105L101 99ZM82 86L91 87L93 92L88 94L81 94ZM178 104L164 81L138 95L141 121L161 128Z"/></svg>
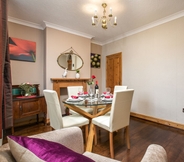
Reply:
<svg viewBox="0 0 184 162"><path fill-rule="evenodd" d="M104 45L102 66L117 52L123 85L135 89L132 112L184 124L184 17Z"/></svg>

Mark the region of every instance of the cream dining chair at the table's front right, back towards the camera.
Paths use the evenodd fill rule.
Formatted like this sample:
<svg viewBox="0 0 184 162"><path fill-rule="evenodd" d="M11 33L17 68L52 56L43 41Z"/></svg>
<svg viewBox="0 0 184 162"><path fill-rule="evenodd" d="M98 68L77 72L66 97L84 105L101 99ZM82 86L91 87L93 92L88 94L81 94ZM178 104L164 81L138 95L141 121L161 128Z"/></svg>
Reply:
<svg viewBox="0 0 184 162"><path fill-rule="evenodd" d="M127 148L130 149L129 121L133 93L133 89L115 91L110 113L92 119L95 130L95 144L97 144L96 126L109 131L111 158L114 158L113 132L119 129L125 128Z"/></svg>

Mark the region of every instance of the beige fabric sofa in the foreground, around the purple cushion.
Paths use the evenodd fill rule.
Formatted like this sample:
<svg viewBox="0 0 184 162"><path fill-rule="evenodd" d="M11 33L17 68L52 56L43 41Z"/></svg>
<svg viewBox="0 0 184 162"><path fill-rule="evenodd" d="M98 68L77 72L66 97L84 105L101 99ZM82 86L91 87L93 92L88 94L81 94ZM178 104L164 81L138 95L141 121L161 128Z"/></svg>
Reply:
<svg viewBox="0 0 184 162"><path fill-rule="evenodd" d="M108 157L104 157L95 153L84 152L83 135L82 135L81 129L78 127L63 128L59 130L54 130L46 133L33 135L28 138L35 139L35 140L36 139L46 140L57 144L59 143L59 145L60 144L63 145L64 147L72 150L73 152L80 154L82 157L85 157L85 158L87 157L96 162L118 162L117 160L110 159ZM0 147L0 162L16 162L14 158L16 154L13 153L14 151L12 152L11 145L12 144L9 141L9 143L6 143ZM14 148L14 150L19 150L19 149ZM12 154L14 154L15 156L13 156ZM37 160L33 160L32 158L28 158L28 157L29 156L26 156L26 160L20 160L20 161L37 162ZM38 160L38 161L44 161L44 160ZM142 162L148 162L148 161L166 162L167 154L164 148L156 144L150 145L142 159Z"/></svg>

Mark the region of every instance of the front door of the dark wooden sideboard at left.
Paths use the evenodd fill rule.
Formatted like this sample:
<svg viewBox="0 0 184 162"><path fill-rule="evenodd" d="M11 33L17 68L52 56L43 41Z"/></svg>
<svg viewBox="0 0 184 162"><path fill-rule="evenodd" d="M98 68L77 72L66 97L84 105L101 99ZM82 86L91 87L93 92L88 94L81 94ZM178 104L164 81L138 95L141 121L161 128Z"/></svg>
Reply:
<svg viewBox="0 0 184 162"><path fill-rule="evenodd" d="M39 99L20 101L19 109L20 109L20 113L19 113L20 118L38 114L40 112Z"/></svg>

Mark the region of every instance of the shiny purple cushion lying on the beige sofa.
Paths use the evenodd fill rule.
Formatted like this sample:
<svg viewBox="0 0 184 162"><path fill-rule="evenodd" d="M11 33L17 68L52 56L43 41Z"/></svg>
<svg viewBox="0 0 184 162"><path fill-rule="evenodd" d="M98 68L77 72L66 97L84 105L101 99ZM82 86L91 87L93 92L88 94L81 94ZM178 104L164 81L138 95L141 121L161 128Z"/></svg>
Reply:
<svg viewBox="0 0 184 162"><path fill-rule="evenodd" d="M56 142L23 136L8 137L47 162L94 162Z"/></svg>

